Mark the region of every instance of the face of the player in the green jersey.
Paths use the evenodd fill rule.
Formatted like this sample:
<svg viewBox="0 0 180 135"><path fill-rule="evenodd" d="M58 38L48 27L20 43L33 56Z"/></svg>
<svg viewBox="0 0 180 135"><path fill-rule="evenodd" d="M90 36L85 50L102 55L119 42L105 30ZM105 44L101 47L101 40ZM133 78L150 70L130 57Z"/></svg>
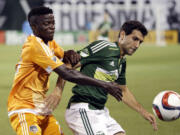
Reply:
<svg viewBox="0 0 180 135"><path fill-rule="evenodd" d="M143 42L144 36L139 30L133 30L129 35L122 35L120 44L124 55L132 55Z"/></svg>

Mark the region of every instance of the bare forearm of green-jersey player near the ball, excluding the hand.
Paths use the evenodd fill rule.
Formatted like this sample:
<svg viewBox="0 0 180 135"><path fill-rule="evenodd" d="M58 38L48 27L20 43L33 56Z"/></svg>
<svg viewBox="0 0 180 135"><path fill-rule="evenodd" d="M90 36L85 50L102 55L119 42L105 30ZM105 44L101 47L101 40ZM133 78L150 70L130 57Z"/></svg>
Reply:
<svg viewBox="0 0 180 135"><path fill-rule="evenodd" d="M141 104L137 102L134 95L130 92L127 86L122 87L123 98L122 101L133 110L139 112L141 115L146 112Z"/></svg>

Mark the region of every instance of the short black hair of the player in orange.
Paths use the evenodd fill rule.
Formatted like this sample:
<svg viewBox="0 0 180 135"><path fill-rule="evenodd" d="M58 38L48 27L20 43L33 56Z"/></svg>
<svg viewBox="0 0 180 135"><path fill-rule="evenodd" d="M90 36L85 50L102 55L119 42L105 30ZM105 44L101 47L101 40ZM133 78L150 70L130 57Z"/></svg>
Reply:
<svg viewBox="0 0 180 135"><path fill-rule="evenodd" d="M28 14L28 21L30 22L30 18L32 16L40 16L46 14L53 14L53 10L49 7L44 7L44 6L33 8Z"/></svg>

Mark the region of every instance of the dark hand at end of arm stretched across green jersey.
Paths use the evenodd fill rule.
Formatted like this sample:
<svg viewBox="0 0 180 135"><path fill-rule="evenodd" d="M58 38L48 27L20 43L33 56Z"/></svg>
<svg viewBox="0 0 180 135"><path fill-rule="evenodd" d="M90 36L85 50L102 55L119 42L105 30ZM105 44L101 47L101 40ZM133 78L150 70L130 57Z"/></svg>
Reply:
<svg viewBox="0 0 180 135"><path fill-rule="evenodd" d="M122 90L119 87L119 84L115 82L109 82L107 84L108 85L105 86L105 90L113 97L115 97L117 101L121 101L123 95L122 95Z"/></svg>

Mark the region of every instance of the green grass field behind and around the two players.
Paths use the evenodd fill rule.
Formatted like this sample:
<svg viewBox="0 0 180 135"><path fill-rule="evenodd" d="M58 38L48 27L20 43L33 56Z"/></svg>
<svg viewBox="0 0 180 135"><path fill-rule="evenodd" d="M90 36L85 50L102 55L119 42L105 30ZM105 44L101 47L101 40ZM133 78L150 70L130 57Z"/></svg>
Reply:
<svg viewBox="0 0 180 135"><path fill-rule="evenodd" d="M77 50L82 47L74 45L63 48ZM0 135L15 135L10 127L6 104L20 52L21 46L0 45ZM53 73L50 78L50 91L55 86L56 78L57 75ZM180 93L180 45L158 47L143 44L133 56L127 57L127 84L136 99L149 112L152 112L152 101L158 92L174 90ZM54 112L65 135L72 135L64 120L72 86L72 83L66 84L61 103ZM173 122L157 120L159 130L154 132L152 126L137 112L111 96L107 107L127 135L180 135L180 119Z"/></svg>

